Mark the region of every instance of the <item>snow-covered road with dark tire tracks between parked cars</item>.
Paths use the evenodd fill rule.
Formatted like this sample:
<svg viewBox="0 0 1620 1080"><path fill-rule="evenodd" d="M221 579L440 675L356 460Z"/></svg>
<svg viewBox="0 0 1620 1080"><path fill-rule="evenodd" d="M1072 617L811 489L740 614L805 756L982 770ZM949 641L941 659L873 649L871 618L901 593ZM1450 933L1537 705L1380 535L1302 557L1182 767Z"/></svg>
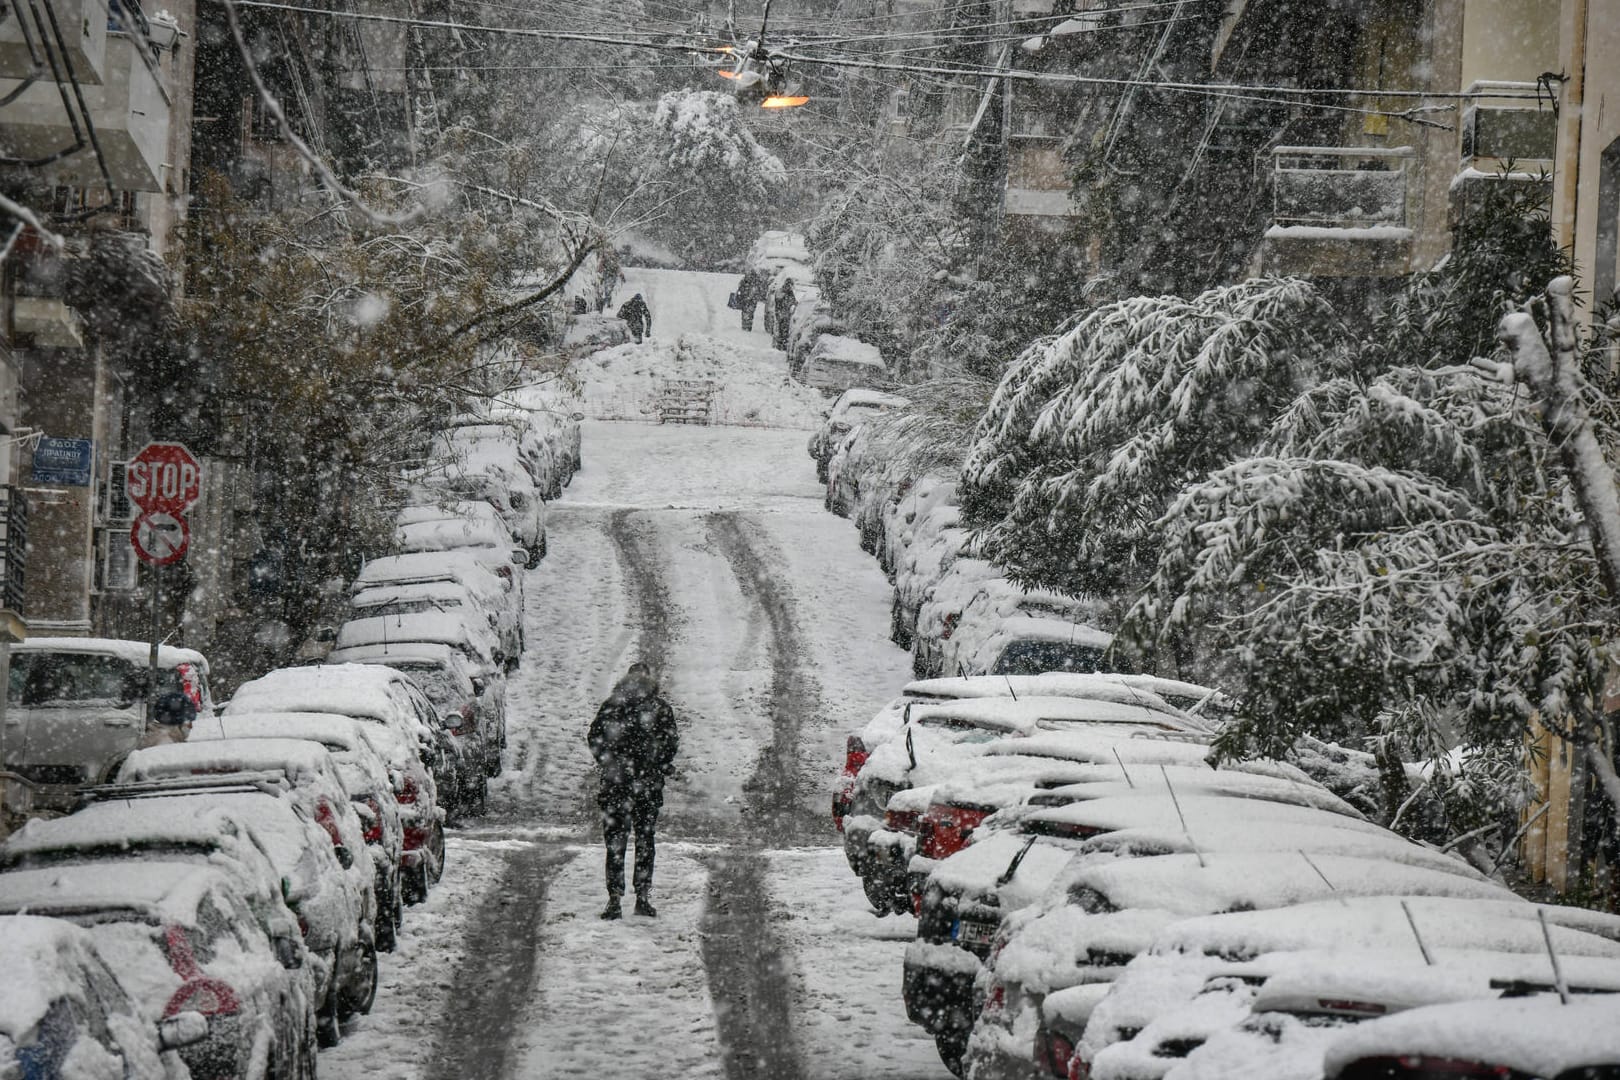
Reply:
<svg viewBox="0 0 1620 1080"><path fill-rule="evenodd" d="M729 277L627 274L659 330L744 337ZM867 910L826 813L844 733L909 657L886 636L883 575L821 510L804 440L586 424L585 470L526 581L491 813L452 831L444 882L322 1075L948 1075L899 999L914 925ZM638 657L663 670L682 753L659 918L603 923L585 727Z"/></svg>

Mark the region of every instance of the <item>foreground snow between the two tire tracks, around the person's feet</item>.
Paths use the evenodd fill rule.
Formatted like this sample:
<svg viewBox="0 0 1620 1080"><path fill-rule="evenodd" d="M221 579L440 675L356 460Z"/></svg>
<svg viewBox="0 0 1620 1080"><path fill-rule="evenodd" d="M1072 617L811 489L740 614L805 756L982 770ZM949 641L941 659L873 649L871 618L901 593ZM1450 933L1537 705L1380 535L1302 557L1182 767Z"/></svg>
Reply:
<svg viewBox="0 0 1620 1080"><path fill-rule="evenodd" d="M546 895L539 986L514 1038L514 1077L719 1077L698 938L708 871L693 848L659 844L658 918L635 918L627 904L624 920L604 923L603 850L577 850Z"/></svg>

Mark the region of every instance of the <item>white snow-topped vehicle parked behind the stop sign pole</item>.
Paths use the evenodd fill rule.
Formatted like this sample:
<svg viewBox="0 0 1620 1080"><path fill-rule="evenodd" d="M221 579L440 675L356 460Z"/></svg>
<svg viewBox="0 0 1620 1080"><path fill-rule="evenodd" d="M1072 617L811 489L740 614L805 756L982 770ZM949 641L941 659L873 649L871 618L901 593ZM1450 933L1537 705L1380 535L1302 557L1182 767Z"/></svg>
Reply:
<svg viewBox="0 0 1620 1080"><path fill-rule="evenodd" d="M89 784L104 784L130 751L180 742L188 725L154 722L147 711L151 643L113 638L29 638L11 646L5 769L31 784L34 811L73 808ZM193 649L157 651L159 695L190 709L159 721L211 714L207 661Z"/></svg>

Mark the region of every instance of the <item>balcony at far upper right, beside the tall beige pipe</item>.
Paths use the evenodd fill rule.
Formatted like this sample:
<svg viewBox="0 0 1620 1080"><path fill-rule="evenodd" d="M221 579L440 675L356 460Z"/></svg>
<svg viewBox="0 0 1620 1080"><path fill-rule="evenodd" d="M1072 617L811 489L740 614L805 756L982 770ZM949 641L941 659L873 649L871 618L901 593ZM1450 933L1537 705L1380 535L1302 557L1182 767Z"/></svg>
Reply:
<svg viewBox="0 0 1620 1080"><path fill-rule="evenodd" d="M1537 97L1534 83L1469 84L1460 125L1460 155L1450 188L1456 223L1497 185L1541 188L1550 194L1558 154L1558 117Z"/></svg>

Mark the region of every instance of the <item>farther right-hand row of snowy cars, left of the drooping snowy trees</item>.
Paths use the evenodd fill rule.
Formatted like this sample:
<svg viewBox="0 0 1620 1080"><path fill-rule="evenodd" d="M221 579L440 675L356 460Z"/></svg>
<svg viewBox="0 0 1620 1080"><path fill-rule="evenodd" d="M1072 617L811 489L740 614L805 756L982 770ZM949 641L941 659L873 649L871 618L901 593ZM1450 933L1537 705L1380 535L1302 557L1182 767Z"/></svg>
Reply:
<svg viewBox="0 0 1620 1080"><path fill-rule="evenodd" d="M894 586L889 636L919 678L1094 672L1113 643L1095 604L1024 589L974 559L956 478L919 471L886 419L906 400L846 390L810 437L826 507L847 517Z"/></svg>

